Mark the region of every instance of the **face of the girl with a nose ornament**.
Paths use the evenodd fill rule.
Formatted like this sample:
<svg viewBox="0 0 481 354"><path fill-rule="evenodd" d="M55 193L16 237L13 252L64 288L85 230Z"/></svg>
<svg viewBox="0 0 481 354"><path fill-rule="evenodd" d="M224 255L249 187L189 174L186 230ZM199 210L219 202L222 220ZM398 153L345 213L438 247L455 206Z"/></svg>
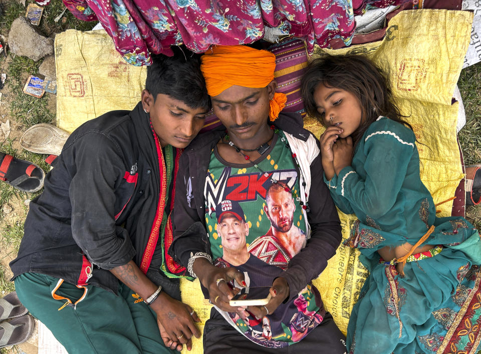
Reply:
<svg viewBox="0 0 481 354"><path fill-rule="evenodd" d="M344 130L340 137L351 135L361 124L361 102L349 91L320 83L314 91L314 101L326 126L336 125Z"/></svg>

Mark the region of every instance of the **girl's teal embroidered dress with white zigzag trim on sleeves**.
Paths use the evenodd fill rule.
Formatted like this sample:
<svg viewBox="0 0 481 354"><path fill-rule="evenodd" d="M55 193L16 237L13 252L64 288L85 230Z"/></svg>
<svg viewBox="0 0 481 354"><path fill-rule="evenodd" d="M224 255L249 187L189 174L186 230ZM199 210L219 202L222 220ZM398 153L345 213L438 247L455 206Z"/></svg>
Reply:
<svg viewBox="0 0 481 354"><path fill-rule="evenodd" d="M446 333L474 286L481 241L464 218L436 217L419 176L414 133L379 117L356 146L351 166L324 179L336 205L359 218L345 244L360 250L370 271L349 320L350 352L413 354L446 347ZM415 244L431 225L435 229L423 244L437 247L411 256L405 276L380 258L378 249ZM479 325L480 318L472 320Z"/></svg>

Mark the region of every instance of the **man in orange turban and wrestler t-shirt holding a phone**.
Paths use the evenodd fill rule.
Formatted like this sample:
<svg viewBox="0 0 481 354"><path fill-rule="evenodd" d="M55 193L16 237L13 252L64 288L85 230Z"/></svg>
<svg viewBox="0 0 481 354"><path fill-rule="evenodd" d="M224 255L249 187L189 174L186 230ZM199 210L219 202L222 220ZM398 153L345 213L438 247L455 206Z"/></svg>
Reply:
<svg viewBox="0 0 481 354"><path fill-rule="evenodd" d="M340 244L339 217L320 177L317 139L299 113L282 112L286 96L276 93L275 66L274 54L243 45L214 46L202 56L223 126L198 135L180 158L169 254L199 278L215 305L204 327L204 353L258 352L259 345L279 354L346 350L312 284ZM271 186L283 193L268 202ZM250 253L234 265L222 258L221 242L238 243L241 221L249 224ZM263 249L249 247L260 244ZM302 249L291 254L286 244ZM266 293L253 289L266 285ZM266 304L232 306L234 287L248 286L260 291L258 298L269 295Z"/></svg>

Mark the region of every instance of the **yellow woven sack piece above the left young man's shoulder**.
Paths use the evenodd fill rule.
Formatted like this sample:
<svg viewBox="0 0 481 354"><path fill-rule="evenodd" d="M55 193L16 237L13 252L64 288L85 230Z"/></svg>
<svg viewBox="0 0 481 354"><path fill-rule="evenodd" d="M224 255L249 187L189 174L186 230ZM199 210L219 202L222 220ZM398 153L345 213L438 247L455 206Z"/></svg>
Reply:
<svg viewBox="0 0 481 354"><path fill-rule="evenodd" d="M72 132L80 124L140 100L146 66L129 65L104 30L68 29L55 37L57 125Z"/></svg>

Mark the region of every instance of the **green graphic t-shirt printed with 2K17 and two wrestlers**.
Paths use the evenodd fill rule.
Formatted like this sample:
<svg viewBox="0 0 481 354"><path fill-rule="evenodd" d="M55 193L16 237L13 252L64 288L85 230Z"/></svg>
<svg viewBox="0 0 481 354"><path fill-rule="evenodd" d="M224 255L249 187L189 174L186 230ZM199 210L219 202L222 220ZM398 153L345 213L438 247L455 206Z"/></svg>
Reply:
<svg viewBox="0 0 481 354"><path fill-rule="evenodd" d="M282 131L272 144L250 164L227 163L214 148L205 178L205 224L214 264L234 266L248 286L271 286L307 241L306 213L297 200L299 176ZM299 341L325 314L312 283L259 320L219 312L239 332L267 347Z"/></svg>

